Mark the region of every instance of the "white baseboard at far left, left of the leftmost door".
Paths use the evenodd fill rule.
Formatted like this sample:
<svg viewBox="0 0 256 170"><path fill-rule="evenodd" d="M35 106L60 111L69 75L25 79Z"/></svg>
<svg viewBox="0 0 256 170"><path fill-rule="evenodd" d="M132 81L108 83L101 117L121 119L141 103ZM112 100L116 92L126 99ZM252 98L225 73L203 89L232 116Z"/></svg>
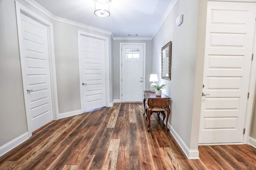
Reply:
<svg viewBox="0 0 256 170"><path fill-rule="evenodd" d="M28 140L28 132L24 133L23 135L20 135L19 137L13 139L12 141L6 143L2 147L0 147L0 157L9 152L10 150L14 149L24 141Z"/></svg>

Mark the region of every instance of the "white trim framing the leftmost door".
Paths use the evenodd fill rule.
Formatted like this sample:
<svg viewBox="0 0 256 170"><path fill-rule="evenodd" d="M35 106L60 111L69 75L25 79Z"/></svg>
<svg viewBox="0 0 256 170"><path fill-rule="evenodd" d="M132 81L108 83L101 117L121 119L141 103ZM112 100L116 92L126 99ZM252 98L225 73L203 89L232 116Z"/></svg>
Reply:
<svg viewBox="0 0 256 170"><path fill-rule="evenodd" d="M16 21L17 21L17 31L18 31L18 43L19 43L19 52L20 52L20 65L22 72L24 72L25 68L22 68L21 62L23 52L20 50L22 49L23 43L22 43L22 37L21 37L21 14L24 14L33 20L36 20L43 25L47 27L47 33L48 33L48 52L49 52L49 69L50 69L50 86L51 86L51 94L52 94L52 114L53 119L58 120L59 119L59 107L58 107L58 94L57 94L57 79L56 79L56 67L55 67L55 54L54 54L54 38L53 38L53 24L50 21L47 21L46 19L42 18L40 15L36 14L32 10L28 9L27 7L23 6L22 4L15 1L16 5ZM24 85L23 80L26 80L25 75L22 74L22 86ZM28 104L26 103L26 87L23 86L23 94L24 94L24 105L26 109L26 119L27 119L27 127L28 127L28 136L32 136L32 130L31 130L31 122L30 115L29 115L29 108Z"/></svg>

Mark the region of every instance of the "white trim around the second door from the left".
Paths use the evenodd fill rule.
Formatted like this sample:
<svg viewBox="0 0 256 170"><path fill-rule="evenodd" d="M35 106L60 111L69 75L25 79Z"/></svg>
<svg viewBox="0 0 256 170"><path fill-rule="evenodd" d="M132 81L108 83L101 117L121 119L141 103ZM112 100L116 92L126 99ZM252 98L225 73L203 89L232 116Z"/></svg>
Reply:
<svg viewBox="0 0 256 170"><path fill-rule="evenodd" d="M104 37L101 35L97 35L94 33L88 33L85 31L80 31L78 30L78 58L79 58L79 86L80 86L80 105L81 105L81 112L84 112L84 105L83 105L83 90L82 90L82 68L81 68L81 48L80 48L80 36L86 36L86 37L92 37L92 38L96 38L96 39L101 39L104 40L105 43L105 84L106 84L106 106L107 107L111 107L112 103L110 103L110 67L109 67L109 38L108 37Z"/></svg>

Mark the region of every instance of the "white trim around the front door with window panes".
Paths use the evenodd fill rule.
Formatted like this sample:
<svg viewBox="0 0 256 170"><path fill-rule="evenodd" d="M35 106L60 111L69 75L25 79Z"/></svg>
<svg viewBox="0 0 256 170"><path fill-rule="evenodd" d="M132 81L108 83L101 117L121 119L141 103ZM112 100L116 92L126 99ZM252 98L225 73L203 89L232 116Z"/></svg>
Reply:
<svg viewBox="0 0 256 170"><path fill-rule="evenodd" d="M146 43L119 43L120 102L122 102L122 45L143 45L143 90L146 86Z"/></svg>

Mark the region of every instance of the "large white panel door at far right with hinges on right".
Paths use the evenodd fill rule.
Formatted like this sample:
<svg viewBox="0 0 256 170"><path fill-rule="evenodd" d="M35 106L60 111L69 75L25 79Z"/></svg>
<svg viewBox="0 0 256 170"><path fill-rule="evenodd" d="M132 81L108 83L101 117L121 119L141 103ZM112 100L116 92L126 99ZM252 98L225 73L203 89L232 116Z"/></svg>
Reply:
<svg viewBox="0 0 256 170"><path fill-rule="evenodd" d="M255 3L208 2L199 143L243 142L255 18Z"/></svg>

